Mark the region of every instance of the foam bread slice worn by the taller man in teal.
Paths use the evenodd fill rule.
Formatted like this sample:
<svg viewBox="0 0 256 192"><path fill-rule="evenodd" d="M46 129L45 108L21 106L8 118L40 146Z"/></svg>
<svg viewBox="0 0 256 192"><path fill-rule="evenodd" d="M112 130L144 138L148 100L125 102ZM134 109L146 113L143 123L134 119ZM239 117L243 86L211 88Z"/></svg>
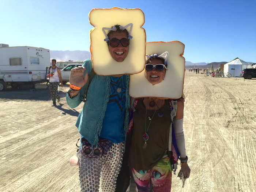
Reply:
<svg viewBox="0 0 256 192"><path fill-rule="evenodd" d="M146 32L142 28L144 13L136 9L93 9L89 22L94 26L90 31L90 52L94 72L98 75L136 74L144 69L146 53ZM129 52L123 62L114 60L108 49L107 34L115 31L115 25L129 32Z"/></svg>

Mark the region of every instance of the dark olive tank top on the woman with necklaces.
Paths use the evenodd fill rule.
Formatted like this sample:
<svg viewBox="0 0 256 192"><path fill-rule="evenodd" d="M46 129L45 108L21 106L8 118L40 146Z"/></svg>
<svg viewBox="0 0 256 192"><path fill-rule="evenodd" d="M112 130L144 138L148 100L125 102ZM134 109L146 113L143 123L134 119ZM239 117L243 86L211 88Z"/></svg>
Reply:
<svg viewBox="0 0 256 192"><path fill-rule="evenodd" d="M163 116L161 117L161 113ZM154 167L168 150L169 132L170 132L170 105L168 99L160 110L147 110L146 129L148 124L147 147L143 148L145 143L143 134L145 132L146 108L143 100L139 99L136 111L133 114L134 124L132 133L132 144L129 153L129 166L135 170L149 170ZM149 118L150 117L150 118Z"/></svg>

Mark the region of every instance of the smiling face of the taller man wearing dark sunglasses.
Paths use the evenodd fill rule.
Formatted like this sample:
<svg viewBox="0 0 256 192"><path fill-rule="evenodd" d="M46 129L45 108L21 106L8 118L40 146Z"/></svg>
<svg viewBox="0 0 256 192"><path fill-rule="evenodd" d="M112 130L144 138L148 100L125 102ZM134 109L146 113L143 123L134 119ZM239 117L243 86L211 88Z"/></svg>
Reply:
<svg viewBox="0 0 256 192"><path fill-rule="evenodd" d="M117 39L127 38L127 34L125 33L125 31L121 33L112 32L109 34L109 39L112 39L112 38L117 38ZM109 45L108 48L109 48L110 55L117 62L124 61L129 51L129 46L124 47L121 43L117 47L112 47Z"/></svg>

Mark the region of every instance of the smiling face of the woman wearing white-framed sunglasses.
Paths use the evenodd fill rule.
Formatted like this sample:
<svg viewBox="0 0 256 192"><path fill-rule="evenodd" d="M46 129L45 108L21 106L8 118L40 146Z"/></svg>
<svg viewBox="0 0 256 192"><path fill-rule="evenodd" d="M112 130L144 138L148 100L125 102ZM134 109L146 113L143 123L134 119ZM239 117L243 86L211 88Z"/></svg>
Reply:
<svg viewBox="0 0 256 192"><path fill-rule="evenodd" d="M154 58L154 59L148 60L147 64L156 65L156 64L165 64L165 62L162 59ZM165 77L165 71L166 69L163 69L162 71L157 71L155 70L155 67L154 67L152 71L146 71L146 78L153 85L161 83L163 78Z"/></svg>

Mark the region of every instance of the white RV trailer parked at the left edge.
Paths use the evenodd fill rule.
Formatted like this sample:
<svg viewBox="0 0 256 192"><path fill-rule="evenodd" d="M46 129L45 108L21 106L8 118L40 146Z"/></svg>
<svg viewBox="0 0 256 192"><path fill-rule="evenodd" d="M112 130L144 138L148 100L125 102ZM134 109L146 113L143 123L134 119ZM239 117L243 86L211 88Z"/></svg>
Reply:
<svg viewBox="0 0 256 192"><path fill-rule="evenodd" d="M18 46L0 47L0 91L7 85L46 81L46 67L50 66L49 49Z"/></svg>

